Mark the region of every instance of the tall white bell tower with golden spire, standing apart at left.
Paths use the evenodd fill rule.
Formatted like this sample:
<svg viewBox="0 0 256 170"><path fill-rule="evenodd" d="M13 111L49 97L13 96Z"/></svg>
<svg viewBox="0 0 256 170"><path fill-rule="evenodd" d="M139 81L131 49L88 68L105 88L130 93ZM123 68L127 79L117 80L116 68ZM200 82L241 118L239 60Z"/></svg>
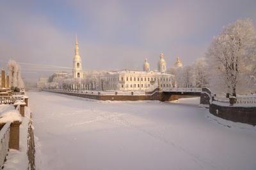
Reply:
<svg viewBox="0 0 256 170"><path fill-rule="evenodd" d="M82 60L79 55L79 46L76 36L75 56L73 60L73 78L83 78Z"/></svg>

